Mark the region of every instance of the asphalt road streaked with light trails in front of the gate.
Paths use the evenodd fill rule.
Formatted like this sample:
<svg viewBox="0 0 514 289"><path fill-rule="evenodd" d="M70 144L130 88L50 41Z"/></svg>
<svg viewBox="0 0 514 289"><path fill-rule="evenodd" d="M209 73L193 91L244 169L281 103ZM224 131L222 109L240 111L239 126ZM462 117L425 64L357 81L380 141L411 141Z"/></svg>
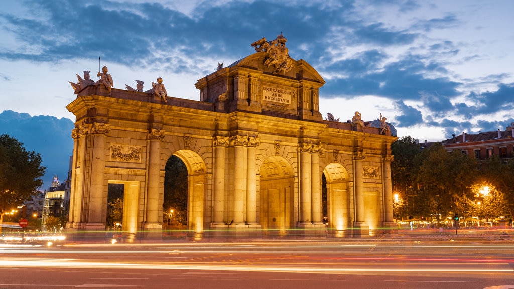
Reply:
<svg viewBox="0 0 514 289"><path fill-rule="evenodd" d="M510 241L0 247L0 288L514 288Z"/></svg>

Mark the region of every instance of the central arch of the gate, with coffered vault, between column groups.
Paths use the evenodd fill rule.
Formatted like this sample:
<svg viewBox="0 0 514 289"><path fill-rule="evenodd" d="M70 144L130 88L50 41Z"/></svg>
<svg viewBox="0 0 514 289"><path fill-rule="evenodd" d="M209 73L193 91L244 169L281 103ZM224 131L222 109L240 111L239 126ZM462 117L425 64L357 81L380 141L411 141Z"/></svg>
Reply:
<svg viewBox="0 0 514 289"><path fill-rule="evenodd" d="M262 163L259 174L263 232L268 236L286 236L295 226L292 168L285 158L270 156Z"/></svg>

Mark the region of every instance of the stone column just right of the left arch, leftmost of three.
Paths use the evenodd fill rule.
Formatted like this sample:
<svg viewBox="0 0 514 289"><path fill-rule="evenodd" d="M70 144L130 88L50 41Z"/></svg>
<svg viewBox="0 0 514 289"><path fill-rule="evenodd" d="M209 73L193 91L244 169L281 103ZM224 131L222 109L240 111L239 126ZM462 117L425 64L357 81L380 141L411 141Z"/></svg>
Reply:
<svg viewBox="0 0 514 289"><path fill-rule="evenodd" d="M214 197L213 197L213 223L212 225L225 225L225 147L228 137L216 136L213 139L214 148Z"/></svg>

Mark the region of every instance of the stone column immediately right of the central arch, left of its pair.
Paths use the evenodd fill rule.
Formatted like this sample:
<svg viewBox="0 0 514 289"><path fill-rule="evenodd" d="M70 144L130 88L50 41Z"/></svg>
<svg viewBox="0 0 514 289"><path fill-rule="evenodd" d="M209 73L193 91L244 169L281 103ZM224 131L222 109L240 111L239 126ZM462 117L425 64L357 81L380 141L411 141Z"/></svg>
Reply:
<svg viewBox="0 0 514 289"><path fill-rule="evenodd" d="M300 151L300 223L311 224L311 187L310 187L310 153L307 145L299 148Z"/></svg>

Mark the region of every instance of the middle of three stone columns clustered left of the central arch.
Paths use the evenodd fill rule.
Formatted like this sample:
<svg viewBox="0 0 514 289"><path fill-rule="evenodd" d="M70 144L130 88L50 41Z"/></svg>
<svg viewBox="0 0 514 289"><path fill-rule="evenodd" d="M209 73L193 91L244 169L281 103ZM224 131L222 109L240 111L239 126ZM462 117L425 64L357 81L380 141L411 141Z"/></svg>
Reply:
<svg viewBox="0 0 514 289"><path fill-rule="evenodd" d="M245 138L235 137L234 145L234 220L233 225L245 224L246 155Z"/></svg>

